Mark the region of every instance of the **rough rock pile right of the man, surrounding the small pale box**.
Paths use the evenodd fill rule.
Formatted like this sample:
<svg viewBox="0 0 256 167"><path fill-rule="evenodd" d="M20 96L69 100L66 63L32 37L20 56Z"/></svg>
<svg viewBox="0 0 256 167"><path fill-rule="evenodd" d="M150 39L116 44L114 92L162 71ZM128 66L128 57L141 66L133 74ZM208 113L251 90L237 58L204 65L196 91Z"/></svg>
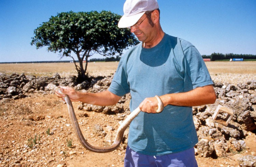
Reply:
<svg viewBox="0 0 256 167"><path fill-rule="evenodd" d="M246 148L244 139L247 131L256 130L255 85L256 80L239 85L215 83L215 104L193 108L199 139L195 146L196 155L217 158ZM219 104L233 110L234 116L228 126L212 120Z"/></svg>

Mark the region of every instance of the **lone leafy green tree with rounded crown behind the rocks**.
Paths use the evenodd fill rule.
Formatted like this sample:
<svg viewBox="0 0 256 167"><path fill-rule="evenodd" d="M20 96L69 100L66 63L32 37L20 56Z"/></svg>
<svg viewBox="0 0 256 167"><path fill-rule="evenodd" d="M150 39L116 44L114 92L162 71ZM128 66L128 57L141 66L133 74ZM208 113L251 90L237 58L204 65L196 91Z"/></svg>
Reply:
<svg viewBox="0 0 256 167"><path fill-rule="evenodd" d="M88 58L93 54L121 56L124 49L139 42L127 28L117 27L120 17L111 11L62 12L34 30L31 45L37 49L47 46L48 51L58 52L61 58L71 57L78 78L84 80ZM79 66L72 52L78 58Z"/></svg>

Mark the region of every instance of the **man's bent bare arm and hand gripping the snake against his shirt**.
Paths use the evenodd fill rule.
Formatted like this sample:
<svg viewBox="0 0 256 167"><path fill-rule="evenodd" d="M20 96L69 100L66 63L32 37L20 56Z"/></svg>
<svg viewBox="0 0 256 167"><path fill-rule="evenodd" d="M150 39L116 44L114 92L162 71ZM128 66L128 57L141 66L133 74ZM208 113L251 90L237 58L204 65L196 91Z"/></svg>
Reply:
<svg viewBox="0 0 256 167"><path fill-rule="evenodd" d="M199 106L215 103L216 94L213 86L207 85L184 93L165 94L160 96L160 99L164 106ZM155 97L146 98L142 103L140 103L140 110L147 113L155 113L157 107L157 99Z"/></svg>

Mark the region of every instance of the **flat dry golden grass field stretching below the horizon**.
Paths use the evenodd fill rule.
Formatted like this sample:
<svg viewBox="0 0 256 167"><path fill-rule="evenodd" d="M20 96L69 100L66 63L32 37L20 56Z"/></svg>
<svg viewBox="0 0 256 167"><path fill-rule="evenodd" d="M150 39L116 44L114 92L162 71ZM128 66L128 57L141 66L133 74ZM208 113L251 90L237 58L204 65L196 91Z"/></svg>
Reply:
<svg viewBox="0 0 256 167"><path fill-rule="evenodd" d="M205 62L210 74L256 74L256 62ZM89 62L90 75L110 75L116 71L118 62ZM76 75L74 63L23 63L0 64L0 73L35 76Z"/></svg>

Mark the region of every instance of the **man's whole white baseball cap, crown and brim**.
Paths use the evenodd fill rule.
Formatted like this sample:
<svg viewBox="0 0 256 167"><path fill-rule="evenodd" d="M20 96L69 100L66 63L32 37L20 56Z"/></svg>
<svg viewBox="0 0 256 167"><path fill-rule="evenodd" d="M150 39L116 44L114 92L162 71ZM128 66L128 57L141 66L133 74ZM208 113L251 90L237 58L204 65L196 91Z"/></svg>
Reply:
<svg viewBox="0 0 256 167"><path fill-rule="evenodd" d="M157 0L126 0L124 15L119 20L118 27L131 27L140 20L146 11L153 11L157 8L159 8Z"/></svg>

